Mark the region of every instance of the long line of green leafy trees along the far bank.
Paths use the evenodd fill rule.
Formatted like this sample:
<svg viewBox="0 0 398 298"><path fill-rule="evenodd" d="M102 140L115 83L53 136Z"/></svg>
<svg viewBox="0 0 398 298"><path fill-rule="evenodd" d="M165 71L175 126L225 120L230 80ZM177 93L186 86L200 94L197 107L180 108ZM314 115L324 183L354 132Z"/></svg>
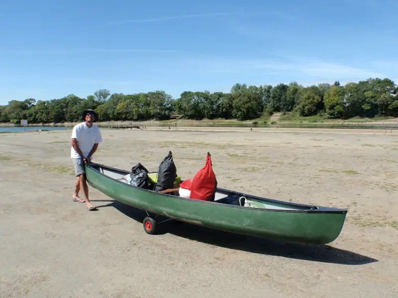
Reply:
<svg viewBox="0 0 398 298"><path fill-rule="evenodd" d="M122 94L100 89L87 98L70 94L48 101L28 98L0 106L0 122L78 122L85 109L94 109L100 121L185 119L250 120L274 112L300 116L347 119L355 116L398 117L397 85L389 78L369 78L340 85L322 83L304 87L297 82L247 86L237 83L230 92L184 91L174 99L165 91Z"/></svg>

